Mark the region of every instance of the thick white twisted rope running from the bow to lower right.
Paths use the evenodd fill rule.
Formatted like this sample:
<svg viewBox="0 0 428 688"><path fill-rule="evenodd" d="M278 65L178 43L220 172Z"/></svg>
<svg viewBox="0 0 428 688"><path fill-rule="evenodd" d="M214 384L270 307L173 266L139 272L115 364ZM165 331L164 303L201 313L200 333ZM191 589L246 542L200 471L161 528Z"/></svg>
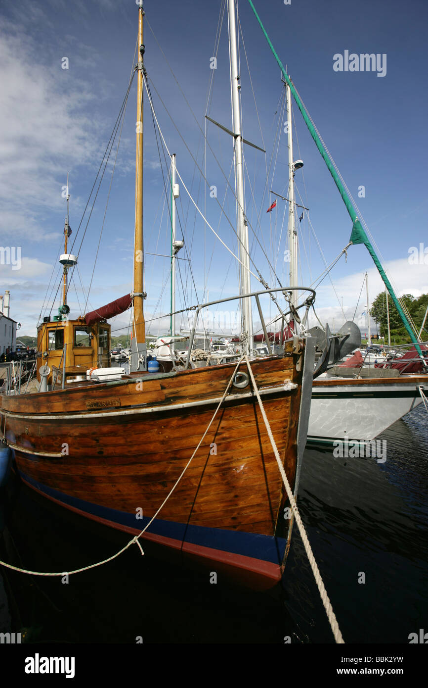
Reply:
<svg viewBox="0 0 428 688"><path fill-rule="evenodd" d="M330 623L331 630L333 631L333 635L335 636L336 643L344 643L345 641L343 641L343 637L342 637L342 634L341 634L340 629L339 629L339 624L337 623L335 612L333 612L333 608L331 606L330 599L328 598L328 594L327 594L326 588L324 586L324 583L322 581L321 574L319 573L319 568L318 568L317 563L315 561L315 557L313 556L311 545L309 544L308 536L306 535L306 530L305 530L304 525L302 523L302 519L300 518L300 513L299 513L299 510L297 509L297 504L295 502L295 498L293 497L293 493L291 492L291 487L290 487L289 481L286 477L286 474L284 471L284 466L282 466L282 462L280 459L280 453L279 453L278 448L275 444L275 440L273 439L271 426L269 425L269 420L267 420L266 412L264 411L262 400L260 398L260 394L259 394L259 391L258 391L258 388L256 385L256 380L254 379L253 371L251 370L251 366L249 365L248 356L245 356L245 361L247 362L247 368L248 368L248 372L249 372L250 377L251 377L251 382L253 383L254 393L256 394L256 397L258 400L258 405L260 406L260 411L262 412L264 424L266 425L266 429L267 429L267 434L269 436L269 440L271 440L273 453L275 454L275 459L278 463L278 468L280 469L280 473L282 475L282 481L284 482L284 487L286 489L287 496L289 497L291 508L293 509L295 522L297 523L297 528L299 528L300 537L302 537L302 542L304 544L306 554L308 555L309 563L311 564L311 569L312 569L314 577L315 577L315 583L317 583L319 594L321 595L322 603L324 605L324 609L326 610L326 614L328 617L328 621Z"/></svg>

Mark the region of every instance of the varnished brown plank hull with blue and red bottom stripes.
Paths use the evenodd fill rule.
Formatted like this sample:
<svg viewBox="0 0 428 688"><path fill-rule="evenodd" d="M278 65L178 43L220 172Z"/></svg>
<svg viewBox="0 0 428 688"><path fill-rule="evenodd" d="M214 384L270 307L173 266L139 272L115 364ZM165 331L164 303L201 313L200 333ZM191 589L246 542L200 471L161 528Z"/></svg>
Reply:
<svg viewBox="0 0 428 688"><path fill-rule="evenodd" d="M282 358L251 363L292 487L302 391L296 363L302 358L291 354L290 345ZM59 504L140 533L192 456L234 367L3 396L1 422L16 468L27 484ZM240 371L247 372L245 364ZM286 380L294 389L286 390ZM231 387L142 538L267 587L280 579L288 551L286 503L251 383Z"/></svg>

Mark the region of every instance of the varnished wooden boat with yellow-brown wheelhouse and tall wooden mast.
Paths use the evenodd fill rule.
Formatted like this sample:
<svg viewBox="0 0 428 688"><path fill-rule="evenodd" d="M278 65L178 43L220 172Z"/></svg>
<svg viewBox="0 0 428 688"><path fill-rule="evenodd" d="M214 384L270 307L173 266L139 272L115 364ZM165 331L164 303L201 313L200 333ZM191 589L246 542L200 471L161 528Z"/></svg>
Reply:
<svg viewBox="0 0 428 688"><path fill-rule="evenodd" d="M137 121L142 122L141 7L138 15ZM233 0L229 21L236 36ZM237 101L235 105L238 110ZM240 148L240 127L235 131ZM133 535L150 522L140 538L146 544L183 552L245 584L268 587L282 575L293 519L284 518L286 494L247 364L192 368L189 352L187 369L181 372L146 372L142 162L139 127L133 293L68 319L67 269L76 257L67 253L66 223L63 305L54 320L38 327L39 391L1 396L3 441L22 480L52 501ZM238 217L244 269L248 251L242 198ZM250 301L256 300L266 332L260 295L276 292L280 297L283 290L250 293L248 272L245 279L235 299L244 304L243 354L251 358ZM102 367L110 349L106 320L131 303L131 372L124 375ZM202 308L197 308L191 339ZM297 337L284 343L281 354L250 361L294 493L306 443L313 361L311 339Z"/></svg>

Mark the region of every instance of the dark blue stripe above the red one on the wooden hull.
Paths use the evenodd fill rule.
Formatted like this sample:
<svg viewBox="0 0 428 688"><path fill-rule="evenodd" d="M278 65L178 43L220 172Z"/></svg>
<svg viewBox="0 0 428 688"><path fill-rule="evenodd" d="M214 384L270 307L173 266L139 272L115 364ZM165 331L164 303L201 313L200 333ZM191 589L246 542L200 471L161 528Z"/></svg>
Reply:
<svg viewBox="0 0 428 688"><path fill-rule="evenodd" d="M142 519L136 519L135 515L126 513L126 511L117 511L116 509L98 506L77 497L65 495L52 487L33 480L21 471L19 473L26 482L45 493L45 495L49 495L49 497L58 499L58 502L74 506L74 508L96 517L137 530L143 530L150 520L144 516ZM186 526L183 523L163 521L161 519L155 519L150 528L148 528L147 533L276 564L282 563L286 546L286 540L281 537L243 533L236 530L221 530L220 528L205 528L205 526Z"/></svg>

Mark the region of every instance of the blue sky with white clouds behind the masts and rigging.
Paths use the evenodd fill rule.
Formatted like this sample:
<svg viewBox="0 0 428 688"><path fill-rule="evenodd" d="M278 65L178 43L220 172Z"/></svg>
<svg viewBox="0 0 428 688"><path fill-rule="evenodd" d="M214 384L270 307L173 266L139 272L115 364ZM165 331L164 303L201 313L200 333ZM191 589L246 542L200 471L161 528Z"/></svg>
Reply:
<svg viewBox="0 0 428 688"><path fill-rule="evenodd" d="M428 292L427 3L254 0L254 4L357 201L358 215L379 247L396 292L415 297ZM144 10L144 64L150 92L166 146L177 153L183 180L177 239L184 239L185 248L179 253L177 308L185 308L238 292L235 259L195 211L184 188L236 253L232 138L205 120L208 114L232 127L227 12L221 22L223 0L146 0ZM115 149L81 248L87 220L79 231L78 226L133 71L137 14L135 0L0 5L0 248L21 256L19 264L1 261L0 294L10 290L10 316L21 322L20 334L35 335L39 318L60 305L56 290L67 173L70 241L76 241L73 252L78 252L78 272L68 296L71 316L132 289L135 79L113 182ZM249 146L244 150L251 258L269 286L275 287L272 266L282 285L287 283L289 267L284 262L286 204L278 200L276 208L266 212L275 199L269 190L287 195L284 86L247 0L239 0L238 17L243 136L266 150ZM363 53L379 55L377 71L334 69L338 55ZM213 56L216 69L210 68ZM304 160L304 168L295 175L296 200L309 208L298 227L300 283L310 286L348 243L352 222L295 105L293 118L294 158ZM169 320L162 316L170 310L168 160L159 131L157 138L155 133L145 96L144 288L148 296L144 308L150 321L146 329L164 334ZM213 186L216 198L210 195ZM5 255L0 251L0 259ZM365 247L351 246L347 260L342 256L330 272L334 288L330 277L317 286L315 308L323 322L337 327L355 312L364 328L365 289L360 299L359 294L366 271L372 301L383 289L381 279ZM261 288L254 278L251 286ZM224 312L234 306L218 308ZM112 334L125 332L128 322L128 314L117 316L111 321ZM179 319L179 325L185 327L186 322Z"/></svg>

